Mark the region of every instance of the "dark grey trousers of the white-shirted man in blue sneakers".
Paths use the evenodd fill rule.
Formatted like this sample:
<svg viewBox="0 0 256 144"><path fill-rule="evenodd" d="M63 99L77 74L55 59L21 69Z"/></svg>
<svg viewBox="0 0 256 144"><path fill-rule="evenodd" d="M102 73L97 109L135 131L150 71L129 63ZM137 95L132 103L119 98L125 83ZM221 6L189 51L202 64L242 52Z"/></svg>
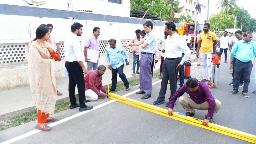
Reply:
<svg viewBox="0 0 256 144"><path fill-rule="evenodd" d="M162 66L162 82L161 82L161 88L158 95L157 100L162 101L165 100L165 94L166 89L168 85L168 80L170 79L170 87L171 87L171 95L169 97L169 100L171 96L174 94L174 92L177 89L177 75L178 75L178 69L176 69L177 65L181 62L181 57L176 59L167 59L163 61Z"/></svg>

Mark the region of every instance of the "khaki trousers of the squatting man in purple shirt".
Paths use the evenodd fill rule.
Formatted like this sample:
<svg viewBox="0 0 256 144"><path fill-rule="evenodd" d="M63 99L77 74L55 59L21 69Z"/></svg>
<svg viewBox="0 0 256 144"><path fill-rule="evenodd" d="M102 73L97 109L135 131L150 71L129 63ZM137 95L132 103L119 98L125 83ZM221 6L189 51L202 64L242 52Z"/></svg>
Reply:
<svg viewBox="0 0 256 144"><path fill-rule="evenodd" d="M184 109L186 109L187 112L191 112L191 113L195 112L194 109L208 110L208 107L209 107L209 105L208 105L209 103L207 101L205 101L202 104L197 104L188 96L181 96L179 101L180 101L180 104L182 105L182 107ZM221 102L219 100L215 100L215 103L216 103L216 105L214 108L213 116L221 108Z"/></svg>

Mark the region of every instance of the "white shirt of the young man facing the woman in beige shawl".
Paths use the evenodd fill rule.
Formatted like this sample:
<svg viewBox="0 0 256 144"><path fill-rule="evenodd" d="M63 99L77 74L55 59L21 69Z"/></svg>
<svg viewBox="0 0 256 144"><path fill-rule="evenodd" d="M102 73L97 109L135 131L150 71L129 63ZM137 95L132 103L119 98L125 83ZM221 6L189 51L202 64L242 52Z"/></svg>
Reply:
<svg viewBox="0 0 256 144"><path fill-rule="evenodd" d="M81 52L81 44L78 40L77 35L72 33L64 42L64 55L65 60L72 62L72 61L82 61L82 52Z"/></svg>

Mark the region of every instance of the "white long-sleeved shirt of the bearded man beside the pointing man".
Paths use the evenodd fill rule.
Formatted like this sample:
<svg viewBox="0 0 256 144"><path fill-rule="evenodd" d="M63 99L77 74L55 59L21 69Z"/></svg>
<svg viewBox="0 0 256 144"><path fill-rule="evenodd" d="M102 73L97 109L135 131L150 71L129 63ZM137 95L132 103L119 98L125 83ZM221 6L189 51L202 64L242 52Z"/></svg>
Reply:
<svg viewBox="0 0 256 144"><path fill-rule="evenodd" d="M180 64L183 65L185 61L191 55L190 49L188 48L183 36L177 34L176 32L172 36L166 38L165 43L165 57L167 58L177 58L181 57L182 51L184 51L184 57L182 58Z"/></svg>

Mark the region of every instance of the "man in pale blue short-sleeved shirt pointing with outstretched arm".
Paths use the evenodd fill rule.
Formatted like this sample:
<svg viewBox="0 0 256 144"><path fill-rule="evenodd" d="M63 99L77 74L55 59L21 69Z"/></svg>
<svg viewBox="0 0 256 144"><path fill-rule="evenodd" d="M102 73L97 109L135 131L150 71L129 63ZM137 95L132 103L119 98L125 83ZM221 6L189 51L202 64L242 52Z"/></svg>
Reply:
<svg viewBox="0 0 256 144"><path fill-rule="evenodd" d="M157 38L153 31L153 23L146 21L143 23L144 31L146 36L138 42L129 43L128 46L139 46L141 45L141 58L140 58L140 91L137 94L144 94L141 97L142 100L150 98L152 92L152 71L151 65L153 62L153 54L156 49Z"/></svg>

